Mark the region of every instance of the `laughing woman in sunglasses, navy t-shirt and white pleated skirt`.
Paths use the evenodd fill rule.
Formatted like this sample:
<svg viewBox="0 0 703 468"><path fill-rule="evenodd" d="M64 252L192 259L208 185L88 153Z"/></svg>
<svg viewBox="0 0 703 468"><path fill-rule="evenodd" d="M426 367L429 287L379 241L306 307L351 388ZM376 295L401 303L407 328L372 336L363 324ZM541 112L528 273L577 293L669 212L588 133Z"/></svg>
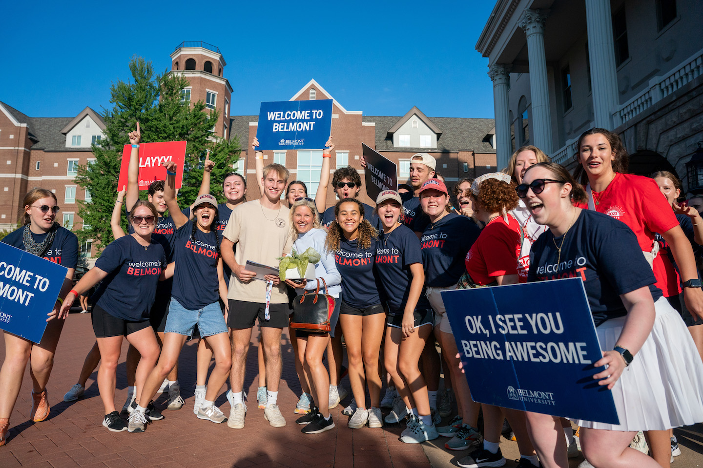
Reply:
<svg viewBox="0 0 703 468"><path fill-rule="evenodd" d="M636 235L605 214L574 206L586 194L565 168L532 166L517 194L536 222L549 227L532 248L528 280L583 279L602 347L593 366L607 366L593 378L612 389L619 424L579 420L584 457L599 468L659 467L628 446L640 430L703 420L703 363L688 330L654 286ZM527 413L527 419L543 467L568 467L559 418Z"/></svg>

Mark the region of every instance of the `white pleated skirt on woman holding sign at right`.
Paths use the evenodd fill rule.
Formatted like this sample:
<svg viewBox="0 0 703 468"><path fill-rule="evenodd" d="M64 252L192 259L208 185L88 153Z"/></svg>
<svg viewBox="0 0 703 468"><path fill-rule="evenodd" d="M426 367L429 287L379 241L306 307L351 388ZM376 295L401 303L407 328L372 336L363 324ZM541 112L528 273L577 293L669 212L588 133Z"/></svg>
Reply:
<svg viewBox="0 0 703 468"><path fill-rule="evenodd" d="M614 431L664 430L703 421L703 361L666 297L654 303L652 333L612 389L620 424L575 420ZM603 351L616 345L626 317L595 328Z"/></svg>

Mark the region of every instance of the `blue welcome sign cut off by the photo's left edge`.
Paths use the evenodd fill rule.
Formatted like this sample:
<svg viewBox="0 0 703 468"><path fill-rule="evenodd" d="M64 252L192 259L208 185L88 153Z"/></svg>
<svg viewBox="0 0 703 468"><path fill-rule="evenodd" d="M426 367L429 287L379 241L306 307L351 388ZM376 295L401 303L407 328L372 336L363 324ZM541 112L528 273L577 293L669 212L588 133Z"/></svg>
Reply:
<svg viewBox="0 0 703 468"><path fill-rule="evenodd" d="M0 242L0 328L39 343L68 269Z"/></svg>

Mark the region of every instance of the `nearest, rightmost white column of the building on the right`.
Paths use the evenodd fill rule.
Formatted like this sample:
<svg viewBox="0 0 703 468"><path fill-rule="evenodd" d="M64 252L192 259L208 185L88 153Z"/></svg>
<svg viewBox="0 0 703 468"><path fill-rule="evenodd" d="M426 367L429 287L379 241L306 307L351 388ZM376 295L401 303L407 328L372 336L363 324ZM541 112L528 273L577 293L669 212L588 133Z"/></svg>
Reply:
<svg viewBox="0 0 703 468"><path fill-rule="evenodd" d="M610 0L586 0L586 29L595 126L611 130L620 122L612 119L618 97Z"/></svg>

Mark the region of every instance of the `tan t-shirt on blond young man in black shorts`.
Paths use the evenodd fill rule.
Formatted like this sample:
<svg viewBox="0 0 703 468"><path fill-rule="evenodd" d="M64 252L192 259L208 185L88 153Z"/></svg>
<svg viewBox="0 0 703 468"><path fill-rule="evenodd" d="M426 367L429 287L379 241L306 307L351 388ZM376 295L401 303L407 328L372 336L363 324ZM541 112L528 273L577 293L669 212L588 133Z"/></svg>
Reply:
<svg viewBox="0 0 703 468"><path fill-rule="evenodd" d="M237 244L235 259L239 265L247 260L278 267L278 257L290 253L293 239L290 236L288 213L290 208L280 205L278 210L264 208L259 200L247 201L232 210L223 235ZM229 280L228 299L245 302L266 302L266 281L252 279L243 283L236 274ZM271 290L271 304L288 302L285 283Z"/></svg>

